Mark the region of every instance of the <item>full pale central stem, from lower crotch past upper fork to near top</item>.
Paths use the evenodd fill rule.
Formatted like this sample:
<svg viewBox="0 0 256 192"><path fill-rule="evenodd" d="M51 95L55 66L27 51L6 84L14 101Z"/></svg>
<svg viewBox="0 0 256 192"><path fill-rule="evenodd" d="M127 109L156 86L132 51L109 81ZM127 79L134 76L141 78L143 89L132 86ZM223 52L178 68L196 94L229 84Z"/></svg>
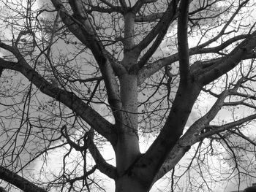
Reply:
<svg viewBox="0 0 256 192"><path fill-rule="evenodd" d="M123 177L127 173L127 169L140 155L138 140L138 75L129 74L129 67L136 64L138 54L135 54L132 48L135 46L134 26L135 14L127 12L124 15L124 58L122 65L126 72L121 74L120 96L121 96L121 112L116 118L117 143L116 152L116 169L118 177Z"/></svg>

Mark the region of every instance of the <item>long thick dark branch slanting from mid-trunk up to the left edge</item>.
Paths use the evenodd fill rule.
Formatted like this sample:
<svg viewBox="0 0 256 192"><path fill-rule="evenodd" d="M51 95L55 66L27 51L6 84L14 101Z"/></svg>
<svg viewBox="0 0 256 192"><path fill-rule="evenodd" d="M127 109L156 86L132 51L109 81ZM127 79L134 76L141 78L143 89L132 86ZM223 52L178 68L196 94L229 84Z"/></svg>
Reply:
<svg viewBox="0 0 256 192"><path fill-rule="evenodd" d="M4 61L0 58L0 67L3 69L12 69L23 74L28 80L39 88L42 93L65 104L76 114L80 115L86 123L94 128L99 134L108 139L112 145L116 143L116 136L112 129L112 124L102 118L99 113L85 104L75 93L56 88L50 82L45 80L40 74L34 71L22 57L18 57L19 62Z"/></svg>

